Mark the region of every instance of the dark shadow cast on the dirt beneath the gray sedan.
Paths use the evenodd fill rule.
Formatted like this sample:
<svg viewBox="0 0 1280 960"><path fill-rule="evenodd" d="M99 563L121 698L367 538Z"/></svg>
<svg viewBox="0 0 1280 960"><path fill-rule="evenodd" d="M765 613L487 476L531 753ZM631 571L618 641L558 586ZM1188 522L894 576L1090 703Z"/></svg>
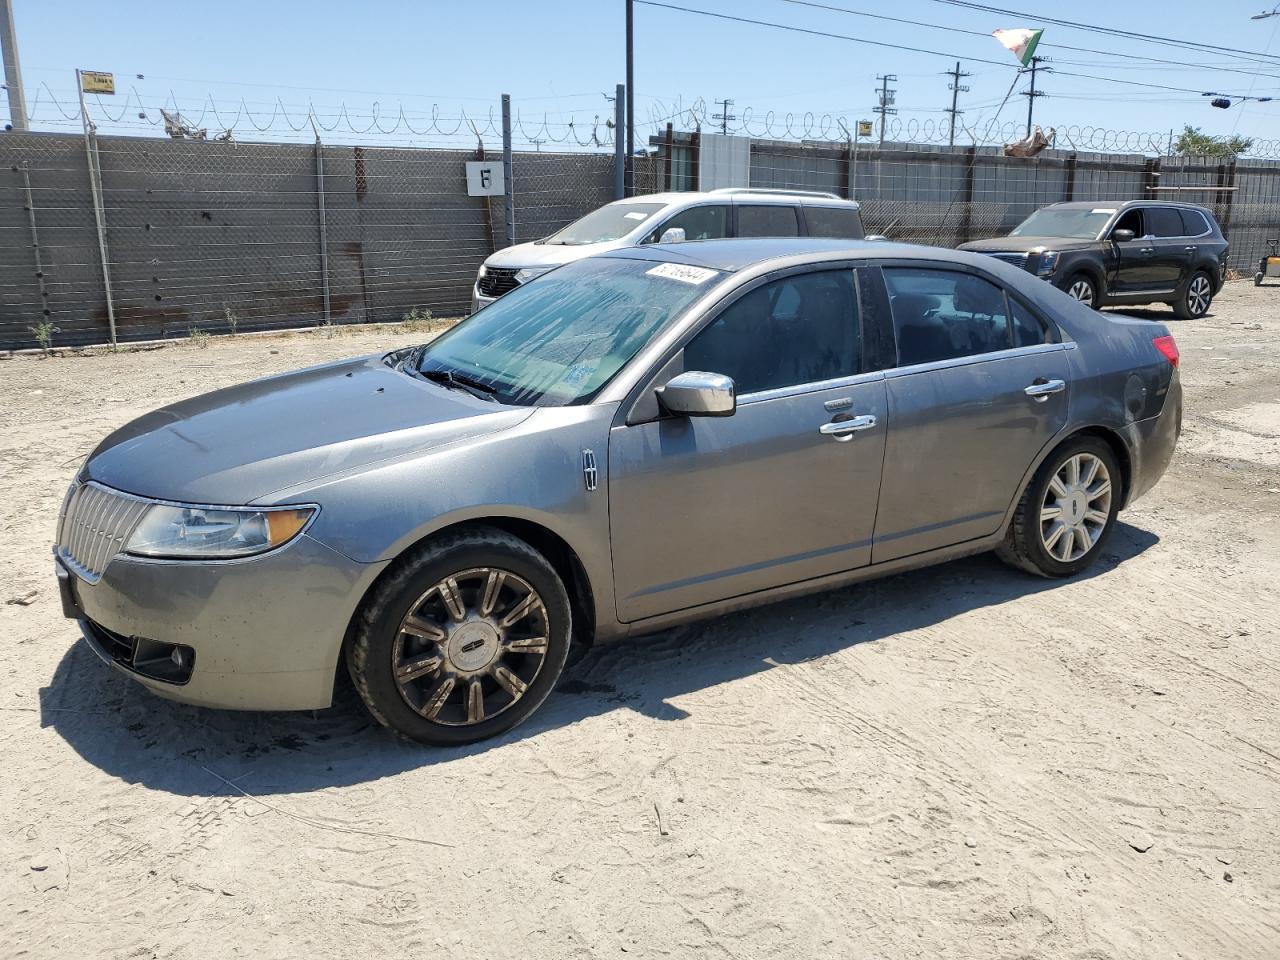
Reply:
<svg viewBox="0 0 1280 960"><path fill-rule="evenodd" d="M1156 543L1155 534L1119 524L1106 554L1078 580L1106 573ZM105 773L152 790L192 796L306 792L502 750L617 709L680 722L689 714L672 700L691 691L945 623L1062 582L1010 570L984 554L608 644L573 663L527 722L466 748L431 749L394 737L370 719L344 671L335 703L325 710L210 710L147 692L106 668L82 641L68 649L40 691L41 724Z"/></svg>

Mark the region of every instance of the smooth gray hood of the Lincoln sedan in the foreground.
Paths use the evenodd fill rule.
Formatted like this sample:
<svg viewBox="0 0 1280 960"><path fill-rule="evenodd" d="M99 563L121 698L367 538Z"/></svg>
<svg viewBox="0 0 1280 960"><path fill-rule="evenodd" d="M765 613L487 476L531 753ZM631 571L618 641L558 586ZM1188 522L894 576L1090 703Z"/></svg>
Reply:
<svg viewBox="0 0 1280 960"><path fill-rule="evenodd" d="M360 357L182 401L108 436L83 475L141 497L241 504L339 471L503 430L508 407Z"/></svg>

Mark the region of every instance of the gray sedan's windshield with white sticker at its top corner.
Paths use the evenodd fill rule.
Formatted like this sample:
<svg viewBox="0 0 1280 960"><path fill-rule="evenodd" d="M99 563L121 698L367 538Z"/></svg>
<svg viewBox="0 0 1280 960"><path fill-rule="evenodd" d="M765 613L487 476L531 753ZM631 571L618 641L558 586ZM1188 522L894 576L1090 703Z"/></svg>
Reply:
<svg viewBox="0 0 1280 960"><path fill-rule="evenodd" d="M558 407L599 390L721 274L593 257L522 284L417 353L424 376L470 380L502 403Z"/></svg>

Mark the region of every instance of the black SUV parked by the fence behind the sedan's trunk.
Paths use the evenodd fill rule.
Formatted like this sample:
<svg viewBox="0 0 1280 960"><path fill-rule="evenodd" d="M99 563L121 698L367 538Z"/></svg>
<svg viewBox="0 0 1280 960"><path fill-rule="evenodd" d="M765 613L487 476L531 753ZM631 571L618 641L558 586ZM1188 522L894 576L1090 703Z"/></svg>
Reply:
<svg viewBox="0 0 1280 960"><path fill-rule="evenodd" d="M960 250L1016 264L1091 307L1169 303L1190 320L1222 288L1228 243L1202 206L1075 201L1041 207L1007 237Z"/></svg>

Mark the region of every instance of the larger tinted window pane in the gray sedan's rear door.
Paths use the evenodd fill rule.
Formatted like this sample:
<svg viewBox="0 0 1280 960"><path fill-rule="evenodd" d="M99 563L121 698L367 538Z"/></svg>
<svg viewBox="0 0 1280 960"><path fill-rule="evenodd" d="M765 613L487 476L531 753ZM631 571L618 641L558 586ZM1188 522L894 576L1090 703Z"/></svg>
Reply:
<svg viewBox="0 0 1280 960"><path fill-rule="evenodd" d="M1007 349L1005 292L955 270L886 268L899 366Z"/></svg>

